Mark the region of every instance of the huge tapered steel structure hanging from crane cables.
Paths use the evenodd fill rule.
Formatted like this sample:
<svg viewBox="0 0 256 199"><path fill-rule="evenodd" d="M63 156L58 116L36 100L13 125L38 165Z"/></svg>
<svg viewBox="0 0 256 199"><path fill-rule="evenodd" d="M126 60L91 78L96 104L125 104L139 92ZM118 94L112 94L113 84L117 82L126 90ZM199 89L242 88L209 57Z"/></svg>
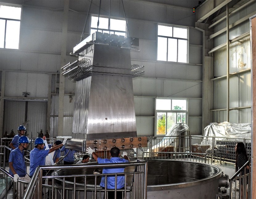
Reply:
<svg viewBox="0 0 256 199"><path fill-rule="evenodd" d="M147 144L137 138L132 77L143 71L133 65L130 49L138 39L93 33L74 47L78 60L62 67L76 81L72 140L67 148L98 151L137 148Z"/></svg>

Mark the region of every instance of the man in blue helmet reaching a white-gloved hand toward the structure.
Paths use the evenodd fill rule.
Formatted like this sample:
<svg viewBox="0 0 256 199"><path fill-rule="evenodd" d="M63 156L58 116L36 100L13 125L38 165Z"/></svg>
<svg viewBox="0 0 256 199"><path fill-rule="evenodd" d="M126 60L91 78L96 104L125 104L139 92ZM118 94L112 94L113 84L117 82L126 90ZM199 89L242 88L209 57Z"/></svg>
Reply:
<svg viewBox="0 0 256 199"><path fill-rule="evenodd" d="M43 139L42 138L36 138L35 139L35 148L33 150L31 150L31 152L30 152L30 169L29 169L30 177L32 177L33 174L35 173L36 167L38 167L40 165L45 165L46 156L49 153L59 149L64 144L66 144L66 141L67 141L68 138L65 138L63 140L62 144L54 146L54 147L52 147L51 149L48 149L48 150L43 150L43 147L44 147L43 140L45 140L45 139L46 139L45 136L43 136Z"/></svg>

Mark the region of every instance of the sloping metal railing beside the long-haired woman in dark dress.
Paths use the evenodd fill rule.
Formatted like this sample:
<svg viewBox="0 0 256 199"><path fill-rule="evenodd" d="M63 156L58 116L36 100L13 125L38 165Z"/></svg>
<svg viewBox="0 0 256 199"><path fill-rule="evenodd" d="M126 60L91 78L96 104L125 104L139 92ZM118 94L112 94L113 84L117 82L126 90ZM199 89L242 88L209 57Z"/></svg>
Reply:
<svg viewBox="0 0 256 199"><path fill-rule="evenodd" d="M249 172L246 174L246 166L249 165ZM244 170L244 174L242 175L242 170ZM244 166L242 166L230 179L229 179L229 195L230 199L233 198L250 198L251 190L250 190L250 175L251 174L251 163L248 160ZM245 183L246 182L246 183ZM233 187L234 185L234 187ZM237 193L238 192L238 193Z"/></svg>

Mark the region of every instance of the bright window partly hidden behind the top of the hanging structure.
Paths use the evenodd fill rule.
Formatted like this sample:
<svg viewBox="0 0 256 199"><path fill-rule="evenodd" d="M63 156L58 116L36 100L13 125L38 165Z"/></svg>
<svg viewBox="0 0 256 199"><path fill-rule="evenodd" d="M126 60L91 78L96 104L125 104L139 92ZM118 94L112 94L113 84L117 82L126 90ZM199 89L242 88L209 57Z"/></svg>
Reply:
<svg viewBox="0 0 256 199"><path fill-rule="evenodd" d="M97 32L98 17L92 16L91 18L91 33ZM108 17L99 18L98 32L109 33L126 36L126 21L124 19L116 19Z"/></svg>

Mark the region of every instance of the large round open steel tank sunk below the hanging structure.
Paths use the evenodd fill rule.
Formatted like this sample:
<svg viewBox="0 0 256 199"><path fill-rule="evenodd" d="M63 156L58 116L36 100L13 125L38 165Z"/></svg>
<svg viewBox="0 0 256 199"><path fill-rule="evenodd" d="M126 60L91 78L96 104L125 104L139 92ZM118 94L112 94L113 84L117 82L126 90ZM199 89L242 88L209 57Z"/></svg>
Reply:
<svg viewBox="0 0 256 199"><path fill-rule="evenodd" d="M221 169L217 166L187 161L176 160L147 160L147 198L216 198L218 194ZM93 174L91 168L72 170L72 174ZM134 167L128 166L125 172L134 171ZM70 172L70 171L68 171ZM58 174L70 174L65 170ZM66 178L66 186L73 186L73 178ZM127 179L130 184L131 179ZM100 179L97 180L99 184ZM76 178L76 183L81 186L84 178ZM94 183L94 178L87 178L87 186ZM60 183L62 184L62 183ZM129 194L128 194L129 195ZM83 197L83 196L81 196Z"/></svg>

